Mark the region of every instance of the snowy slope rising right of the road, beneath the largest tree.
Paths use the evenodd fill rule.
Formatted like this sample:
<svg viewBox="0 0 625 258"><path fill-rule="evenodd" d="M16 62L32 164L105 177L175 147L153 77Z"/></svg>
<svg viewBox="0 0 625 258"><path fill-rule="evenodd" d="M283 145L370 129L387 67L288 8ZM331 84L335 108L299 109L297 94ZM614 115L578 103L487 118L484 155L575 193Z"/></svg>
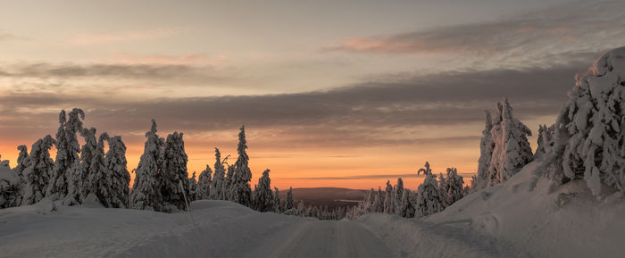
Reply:
<svg viewBox="0 0 625 258"><path fill-rule="evenodd" d="M471 193L424 220L369 214L370 225L397 256L615 257L625 254L625 203L602 205L583 180L554 191L540 180L540 161L501 185Z"/></svg>

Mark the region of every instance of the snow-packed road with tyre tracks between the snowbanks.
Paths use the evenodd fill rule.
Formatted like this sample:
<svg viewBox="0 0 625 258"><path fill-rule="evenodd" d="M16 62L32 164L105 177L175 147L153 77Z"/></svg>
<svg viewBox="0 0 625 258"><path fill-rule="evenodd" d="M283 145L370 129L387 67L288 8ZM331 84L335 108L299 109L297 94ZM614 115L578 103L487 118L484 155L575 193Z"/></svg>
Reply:
<svg viewBox="0 0 625 258"><path fill-rule="evenodd" d="M378 237L354 221L305 221L261 243L243 257L388 257Z"/></svg>

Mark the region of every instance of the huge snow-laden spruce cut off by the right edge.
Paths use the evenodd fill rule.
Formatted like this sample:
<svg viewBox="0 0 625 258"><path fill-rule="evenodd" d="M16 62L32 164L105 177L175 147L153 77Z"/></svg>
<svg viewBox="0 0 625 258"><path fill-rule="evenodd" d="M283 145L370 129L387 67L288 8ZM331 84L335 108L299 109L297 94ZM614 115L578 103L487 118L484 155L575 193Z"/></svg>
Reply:
<svg viewBox="0 0 625 258"><path fill-rule="evenodd" d="M571 100L554 124L554 146L543 167L556 184L584 179L599 197L605 186L625 193L625 47L606 52L575 78Z"/></svg>

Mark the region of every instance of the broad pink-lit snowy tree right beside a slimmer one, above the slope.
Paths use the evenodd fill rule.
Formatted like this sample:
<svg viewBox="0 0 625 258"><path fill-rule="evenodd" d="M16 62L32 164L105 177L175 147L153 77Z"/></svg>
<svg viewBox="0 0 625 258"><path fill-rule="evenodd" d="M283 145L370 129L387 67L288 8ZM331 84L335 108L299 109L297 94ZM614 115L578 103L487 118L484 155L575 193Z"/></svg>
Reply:
<svg viewBox="0 0 625 258"><path fill-rule="evenodd" d="M531 130L512 117L512 107L504 98L497 104L496 124L491 129L495 149L488 166L488 186L504 183L533 160L528 136Z"/></svg>

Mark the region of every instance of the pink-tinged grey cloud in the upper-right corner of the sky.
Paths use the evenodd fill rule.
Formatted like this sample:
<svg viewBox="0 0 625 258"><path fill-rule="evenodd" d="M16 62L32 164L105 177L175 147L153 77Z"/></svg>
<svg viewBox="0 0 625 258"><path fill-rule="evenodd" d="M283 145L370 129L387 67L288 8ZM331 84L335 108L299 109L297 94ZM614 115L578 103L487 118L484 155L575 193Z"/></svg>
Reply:
<svg viewBox="0 0 625 258"><path fill-rule="evenodd" d="M390 36L354 37L323 47L324 52L450 54L488 59L544 61L542 54L596 52L625 40L625 2L593 1L556 5L508 19L462 24Z"/></svg>

